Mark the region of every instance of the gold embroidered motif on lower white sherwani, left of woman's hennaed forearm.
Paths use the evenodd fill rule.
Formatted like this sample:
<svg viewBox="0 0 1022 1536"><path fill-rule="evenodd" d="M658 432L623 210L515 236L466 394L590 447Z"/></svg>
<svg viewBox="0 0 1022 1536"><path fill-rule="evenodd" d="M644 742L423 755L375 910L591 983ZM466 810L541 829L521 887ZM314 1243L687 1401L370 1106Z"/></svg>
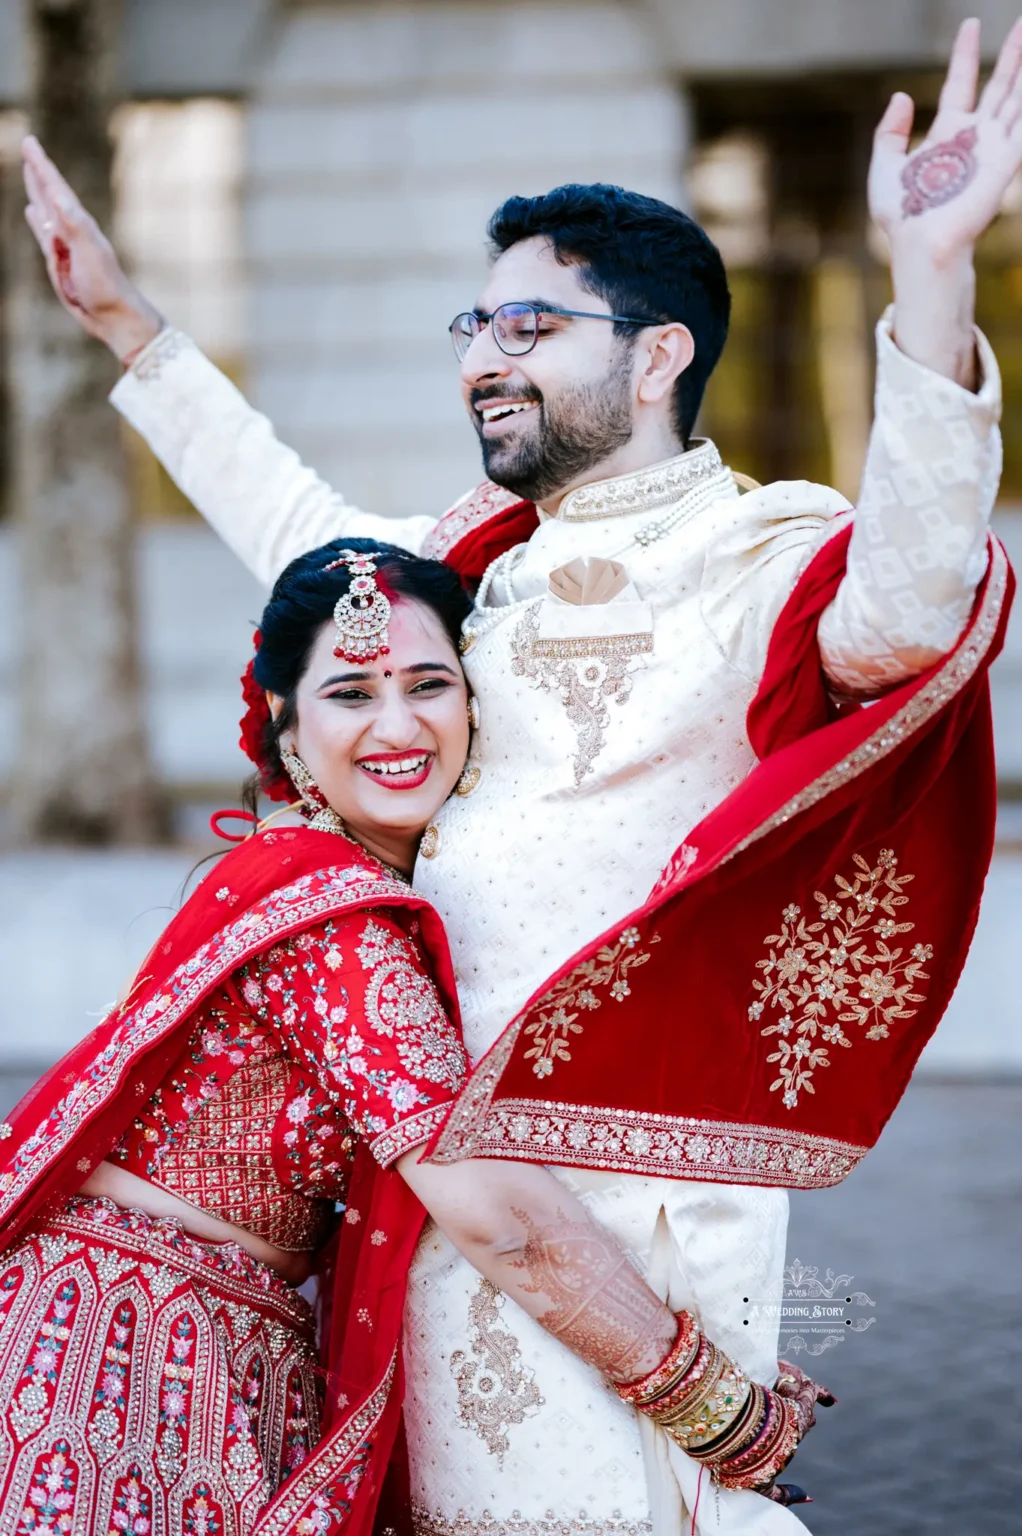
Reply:
<svg viewBox="0 0 1022 1536"><path fill-rule="evenodd" d="M490 1456L504 1464L507 1430L544 1402L532 1372L521 1362L521 1344L498 1327L504 1298L489 1279L469 1303L470 1355L456 1349L450 1369L458 1384L458 1418L486 1441Z"/></svg>

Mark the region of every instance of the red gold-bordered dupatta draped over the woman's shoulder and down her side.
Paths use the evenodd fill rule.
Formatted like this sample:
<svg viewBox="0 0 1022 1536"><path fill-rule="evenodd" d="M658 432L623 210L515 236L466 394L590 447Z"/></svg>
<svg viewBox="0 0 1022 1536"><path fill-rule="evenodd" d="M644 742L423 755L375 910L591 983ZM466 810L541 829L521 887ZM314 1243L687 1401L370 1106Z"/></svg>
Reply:
<svg viewBox="0 0 1022 1536"><path fill-rule="evenodd" d="M129 997L3 1127L0 1249L81 1187L180 1054L195 1008L232 971L310 923L378 906L418 926L441 1000L458 1021L440 919L361 848L303 828L261 833L229 852L161 934ZM341 1527L346 1536L369 1536L400 1430L401 1315L424 1217L401 1177L363 1147L326 1298L323 1438L281 1484L257 1536Z"/></svg>

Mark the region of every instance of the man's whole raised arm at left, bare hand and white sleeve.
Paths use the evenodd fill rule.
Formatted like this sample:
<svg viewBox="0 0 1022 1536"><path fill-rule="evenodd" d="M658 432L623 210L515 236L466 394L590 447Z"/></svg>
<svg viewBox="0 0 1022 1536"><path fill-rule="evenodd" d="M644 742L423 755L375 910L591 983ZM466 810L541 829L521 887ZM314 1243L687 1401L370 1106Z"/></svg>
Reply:
<svg viewBox="0 0 1022 1536"><path fill-rule="evenodd" d="M387 539L418 553L435 519L380 518L324 485L198 347L164 324L38 141L26 138L22 154L25 217L54 292L128 369L114 404L260 581L272 582L287 561L327 539Z"/></svg>

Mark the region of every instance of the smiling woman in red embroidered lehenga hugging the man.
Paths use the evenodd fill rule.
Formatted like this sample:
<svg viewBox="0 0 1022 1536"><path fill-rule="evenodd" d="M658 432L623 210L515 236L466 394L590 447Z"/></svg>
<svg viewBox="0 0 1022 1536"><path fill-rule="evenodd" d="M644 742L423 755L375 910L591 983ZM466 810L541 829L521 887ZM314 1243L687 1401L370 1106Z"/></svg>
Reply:
<svg viewBox="0 0 1022 1536"><path fill-rule="evenodd" d="M715 1481L801 1496L773 1479L822 1389L750 1382L547 1169L424 1155L467 1063L407 877L466 762L466 608L452 570L366 539L277 582L243 742L295 814L206 876L2 1129L2 1530L367 1536L381 1498L407 1528L427 1212Z"/></svg>

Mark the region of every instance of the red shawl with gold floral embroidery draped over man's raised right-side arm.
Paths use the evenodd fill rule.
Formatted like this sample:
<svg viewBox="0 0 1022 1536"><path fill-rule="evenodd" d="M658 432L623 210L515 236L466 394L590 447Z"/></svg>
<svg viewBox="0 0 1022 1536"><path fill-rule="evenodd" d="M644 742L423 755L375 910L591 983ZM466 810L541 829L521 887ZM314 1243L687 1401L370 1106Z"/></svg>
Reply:
<svg viewBox="0 0 1022 1536"><path fill-rule="evenodd" d="M647 899L573 955L430 1144L676 1178L836 1184L878 1140L961 974L993 849L990 562L954 651L838 711L818 622L851 530L804 571L748 711L759 757Z"/></svg>

